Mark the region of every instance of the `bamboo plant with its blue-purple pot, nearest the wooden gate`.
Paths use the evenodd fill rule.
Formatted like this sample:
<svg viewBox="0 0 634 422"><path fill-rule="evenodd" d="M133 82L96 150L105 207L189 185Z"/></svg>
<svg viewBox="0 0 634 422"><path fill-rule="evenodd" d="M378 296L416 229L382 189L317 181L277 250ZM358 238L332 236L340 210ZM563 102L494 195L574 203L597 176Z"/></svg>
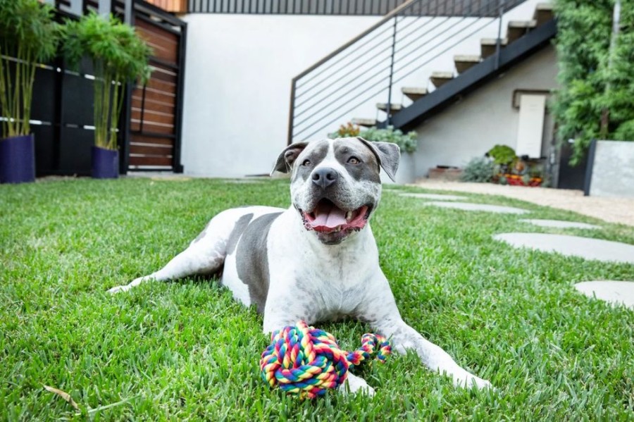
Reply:
<svg viewBox="0 0 634 422"><path fill-rule="evenodd" d="M117 178L118 122L125 84L149 80L151 49L130 25L112 15L89 13L66 22L63 50L68 62L77 66L87 56L94 73L94 146L92 177Z"/></svg>

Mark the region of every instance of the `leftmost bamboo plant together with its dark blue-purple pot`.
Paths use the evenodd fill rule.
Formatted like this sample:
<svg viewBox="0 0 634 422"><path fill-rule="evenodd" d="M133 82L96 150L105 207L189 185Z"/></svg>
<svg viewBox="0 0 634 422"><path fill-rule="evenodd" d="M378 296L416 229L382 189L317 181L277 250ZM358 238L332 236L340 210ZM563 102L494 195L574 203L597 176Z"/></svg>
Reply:
<svg viewBox="0 0 634 422"><path fill-rule="evenodd" d="M32 182L35 70L55 56L60 26L53 8L37 0L0 0L0 16L0 182Z"/></svg>

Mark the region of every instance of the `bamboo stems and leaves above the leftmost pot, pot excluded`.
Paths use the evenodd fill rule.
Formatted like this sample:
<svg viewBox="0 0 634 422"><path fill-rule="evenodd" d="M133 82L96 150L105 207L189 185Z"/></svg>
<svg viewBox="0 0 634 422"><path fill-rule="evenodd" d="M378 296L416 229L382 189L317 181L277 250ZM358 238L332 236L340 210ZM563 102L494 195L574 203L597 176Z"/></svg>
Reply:
<svg viewBox="0 0 634 422"><path fill-rule="evenodd" d="M28 135L35 70L53 58L60 25L49 4L0 0L0 113L2 136ZM17 60L13 60L13 58Z"/></svg>

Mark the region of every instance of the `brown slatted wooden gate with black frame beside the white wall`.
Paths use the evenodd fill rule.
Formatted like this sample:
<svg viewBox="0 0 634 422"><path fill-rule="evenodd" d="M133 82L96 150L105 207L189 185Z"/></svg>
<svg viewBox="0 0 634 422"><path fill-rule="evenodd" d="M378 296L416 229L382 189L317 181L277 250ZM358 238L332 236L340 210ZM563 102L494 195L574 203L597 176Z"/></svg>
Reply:
<svg viewBox="0 0 634 422"><path fill-rule="evenodd" d="M130 92L127 170L182 172L180 133L187 24L145 1L135 1L133 25L154 50L147 85Z"/></svg>

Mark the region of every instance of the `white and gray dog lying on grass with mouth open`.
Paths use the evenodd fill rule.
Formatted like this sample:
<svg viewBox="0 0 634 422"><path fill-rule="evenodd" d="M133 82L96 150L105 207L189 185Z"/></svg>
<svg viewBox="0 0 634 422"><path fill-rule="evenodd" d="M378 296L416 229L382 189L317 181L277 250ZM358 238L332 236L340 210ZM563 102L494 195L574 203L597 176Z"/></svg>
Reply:
<svg viewBox="0 0 634 422"><path fill-rule="evenodd" d="M380 169L394 180L399 158L396 144L361 137L291 144L271 172L291 173L288 209L223 211L159 271L108 292L222 268L222 285L242 304L256 306L265 333L299 320L313 325L356 318L391 338L396 352L416 352L430 370L451 376L454 385L490 387L403 321L379 266L368 221L380 201ZM349 391L374 393L352 374L347 383L342 387Z"/></svg>

